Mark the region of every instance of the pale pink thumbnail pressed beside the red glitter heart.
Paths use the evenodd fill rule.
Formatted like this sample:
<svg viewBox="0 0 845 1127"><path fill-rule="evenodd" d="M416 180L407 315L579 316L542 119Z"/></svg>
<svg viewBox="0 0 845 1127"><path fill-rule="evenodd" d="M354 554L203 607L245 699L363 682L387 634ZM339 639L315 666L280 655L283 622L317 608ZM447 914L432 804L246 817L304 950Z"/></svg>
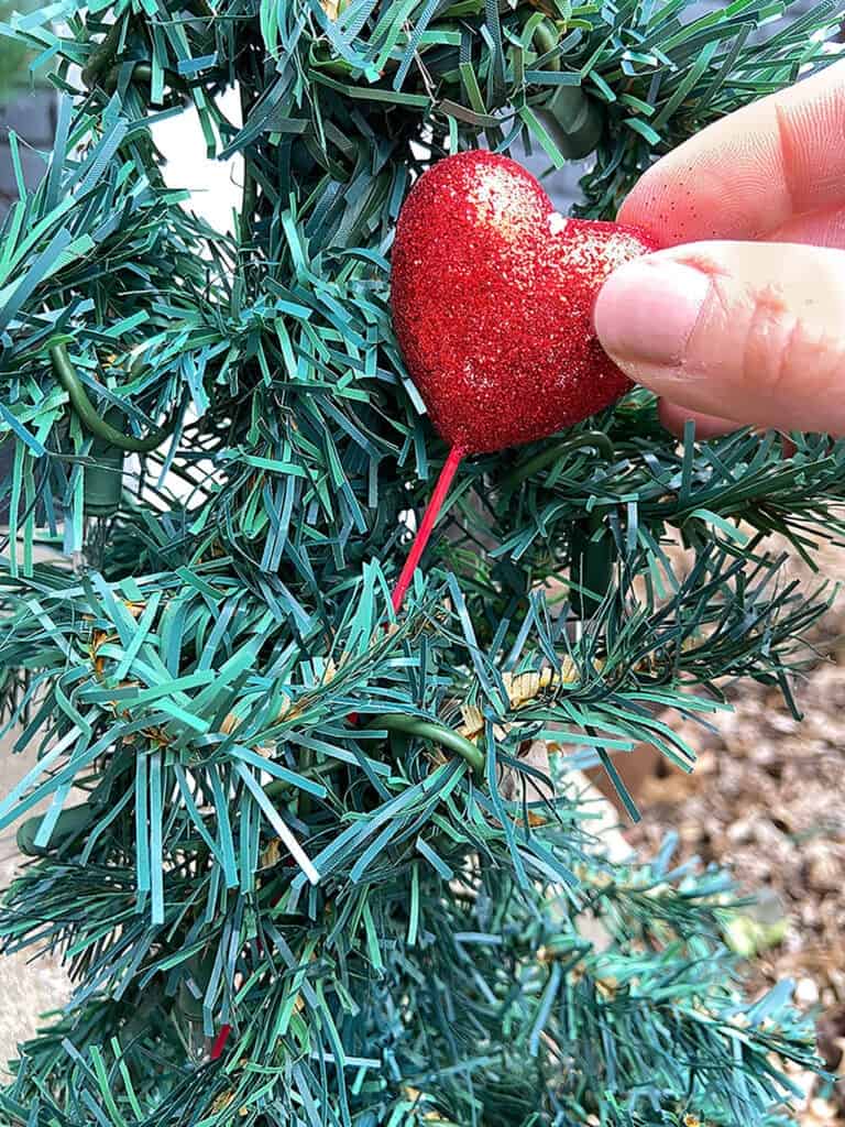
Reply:
<svg viewBox="0 0 845 1127"><path fill-rule="evenodd" d="M598 294L598 339L623 362L678 364L709 289L706 274L693 266L660 258L626 263Z"/></svg>

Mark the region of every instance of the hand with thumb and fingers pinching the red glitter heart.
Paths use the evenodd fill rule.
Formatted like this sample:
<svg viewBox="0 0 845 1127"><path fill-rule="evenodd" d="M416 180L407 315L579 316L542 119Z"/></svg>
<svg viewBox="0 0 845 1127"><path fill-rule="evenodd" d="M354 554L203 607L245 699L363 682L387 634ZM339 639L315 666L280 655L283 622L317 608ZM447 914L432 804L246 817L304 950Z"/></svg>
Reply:
<svg viewBox="0 0 845 1127"><path fill-rule="evenodd" d="M611 275L596 331L671 431L845 435L845 61L679 145L619 219L666 249Z"/></svg>

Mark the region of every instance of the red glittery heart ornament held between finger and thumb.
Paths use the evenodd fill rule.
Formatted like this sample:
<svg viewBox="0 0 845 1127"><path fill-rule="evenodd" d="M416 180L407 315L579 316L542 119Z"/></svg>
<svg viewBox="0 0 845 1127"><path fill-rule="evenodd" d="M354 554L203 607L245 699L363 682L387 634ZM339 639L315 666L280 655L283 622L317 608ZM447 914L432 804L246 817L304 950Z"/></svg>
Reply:
<svg viewBox="0 0 845 1127"><path fill-rule="evenodd" d="M441 435L465 454L543 438L630 387L593 305L646 231L559 215L537 180L477 151L434 165L397 225L391 305L408 371Z"/></svg>

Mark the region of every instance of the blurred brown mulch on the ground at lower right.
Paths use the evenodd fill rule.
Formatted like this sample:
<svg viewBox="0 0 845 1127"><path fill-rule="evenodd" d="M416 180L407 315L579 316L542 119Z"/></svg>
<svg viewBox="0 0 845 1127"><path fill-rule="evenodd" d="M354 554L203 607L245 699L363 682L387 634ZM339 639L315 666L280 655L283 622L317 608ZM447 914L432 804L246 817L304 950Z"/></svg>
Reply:
<svg viewBox="0 0 845 1127"><path fill-rule="evenodd" d="M828 575L843 575L843 557ZM818 1044L843 1081L816 1090L803 1127L845 1124L845 603L815 631L819 659L794 690L804 719L779 692L744 682L729 690L733 712L712 731L677 725L696 748L686 777L675 769L648 778L643 813L626 838L653 851L667 831L685 858L729 866L740 888L758 895L749 919L748 971L755 990L781 978L818 1014Z"/></svg>

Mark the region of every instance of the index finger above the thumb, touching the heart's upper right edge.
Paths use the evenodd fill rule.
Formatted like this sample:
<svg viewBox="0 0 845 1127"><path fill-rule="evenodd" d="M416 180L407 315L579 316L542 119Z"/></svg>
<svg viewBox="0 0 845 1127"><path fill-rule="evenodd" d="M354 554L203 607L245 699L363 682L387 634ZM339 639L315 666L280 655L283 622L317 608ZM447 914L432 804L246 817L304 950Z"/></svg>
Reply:
<svg viewBox="0 0 845 1127"><path fill-rule="evenodd" d="M845 61L714 122L653 165L619 220L666 247L760 239L845 202Z"/></svg>

